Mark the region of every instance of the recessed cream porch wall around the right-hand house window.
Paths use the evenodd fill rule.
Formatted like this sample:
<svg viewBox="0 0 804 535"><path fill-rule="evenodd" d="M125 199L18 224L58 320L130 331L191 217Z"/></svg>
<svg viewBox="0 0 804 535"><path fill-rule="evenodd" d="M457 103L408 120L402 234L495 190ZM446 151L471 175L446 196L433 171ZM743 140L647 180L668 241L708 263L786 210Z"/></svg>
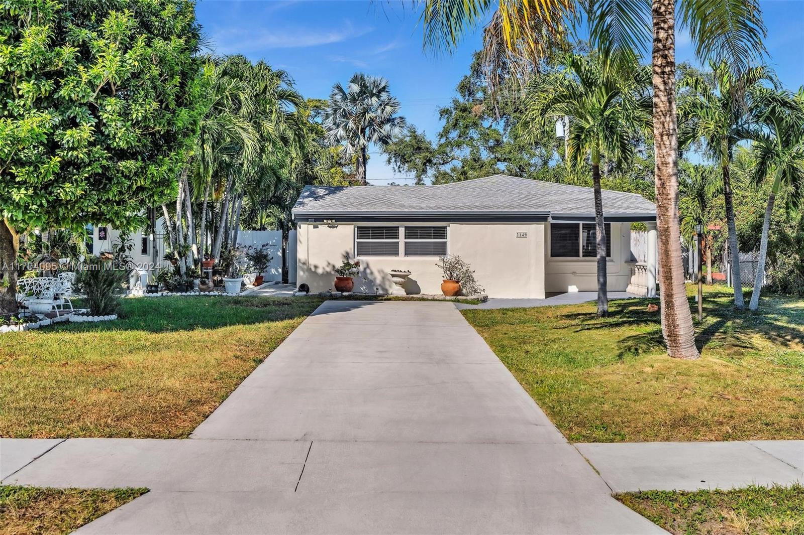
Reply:
<svg viewBox="0 0 804 535"><path fill-rule="evenodd" d="M611 258L606 261L606 288L610 292L625 292L631 280L631 224L611 224ZM574 286L578 292L597 292L597 259L551 258L550 232L546 233L544 288L546 292L568 292Z"/></svg>

